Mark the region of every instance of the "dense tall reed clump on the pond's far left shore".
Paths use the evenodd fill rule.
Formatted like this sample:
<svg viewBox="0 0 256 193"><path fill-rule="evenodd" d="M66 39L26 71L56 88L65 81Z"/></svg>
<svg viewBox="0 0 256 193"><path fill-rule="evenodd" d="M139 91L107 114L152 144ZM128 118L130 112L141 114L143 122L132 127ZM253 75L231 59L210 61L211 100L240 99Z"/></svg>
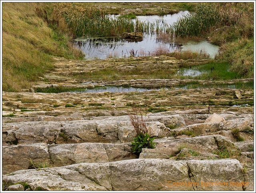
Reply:
<svg viewBox="0 0 256 193"><path fill-rule="evenodd" d="M64 19L75 36L116 36L134 32L134 22L130 17L112 18L102 8L54 4L53 14L57 21Z"/></svg>

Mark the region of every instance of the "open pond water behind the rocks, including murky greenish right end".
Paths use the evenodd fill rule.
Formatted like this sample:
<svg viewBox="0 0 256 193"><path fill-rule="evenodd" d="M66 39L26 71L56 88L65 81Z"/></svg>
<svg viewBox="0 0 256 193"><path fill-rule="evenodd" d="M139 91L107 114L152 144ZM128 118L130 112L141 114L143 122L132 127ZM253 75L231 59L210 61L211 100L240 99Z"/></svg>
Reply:
<svg viewBox="0 0 256 193"><path fill-rule="evenodd" d="M170 25L176 22L179 17L186 14L189 14L189 12L180 11L177 14L166 16L137 16L137 19L142 22L159 22L159 24L164 21ZM192 50L194 52L200 52L200 50L203 50L213 58L214 55L218 53L219 48L218 46L208 43L206 40L177 43L174 42L174 39L166 40L166 38L156 33L144 34L142 40L130 40L120 37L83 36L76 38L74 43L86 54L85 58L87 60L96 58L106 59L110 57L126 58L130 56L131 50L134 50L136 56L148 56L160 47L169 50L169 52L173 52L174 50Z"/></svg>

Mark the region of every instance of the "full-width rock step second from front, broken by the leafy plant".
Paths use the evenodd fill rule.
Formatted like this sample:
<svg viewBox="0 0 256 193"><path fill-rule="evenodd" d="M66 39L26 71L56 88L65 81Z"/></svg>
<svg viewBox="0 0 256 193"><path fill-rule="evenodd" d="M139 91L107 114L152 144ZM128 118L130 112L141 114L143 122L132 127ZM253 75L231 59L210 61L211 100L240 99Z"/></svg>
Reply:
<svg viewBox="0 0 256 193"><path fill-rule="evenodd" d="M220 149L220 147L236 148L234 143L221 135L181 139L164 138L155 139L154 142L156 142L156 149L142 149L140 158L167 159L172 155L176 155L181 149L188 148L198 152L200 155L197 156L203 156L204 159L212 159L218 158L217 155L213 155L212 153L216 149ZM59 167L76 163L104 163L138 158L137 155L132 153L131 147L131 143L74 143L58 145L33 143L28 145L3 146L3 173L11 173L30 168L30 158L36 162L47 163L49 167ZM246 152L242 156L247 156L249 160L249 158L253 157L253 153ZM194 157L193 159L198 158ZM244 157L241 157L241 159L244 159Z"/></svg>

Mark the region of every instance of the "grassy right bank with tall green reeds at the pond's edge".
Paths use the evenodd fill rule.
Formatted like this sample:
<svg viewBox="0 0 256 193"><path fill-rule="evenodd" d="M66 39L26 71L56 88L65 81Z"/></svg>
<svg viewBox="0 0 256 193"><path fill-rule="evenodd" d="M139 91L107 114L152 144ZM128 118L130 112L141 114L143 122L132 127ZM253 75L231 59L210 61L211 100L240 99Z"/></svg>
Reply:
<svg viewBox="0 0 256 193"><path fill-rule="evenodd" d="M245 78L254 77L254 4L204 3L193 14L180 18L171 27L175 36L209 37L221 46L218 60L228 60L230 70Z"/></svg>

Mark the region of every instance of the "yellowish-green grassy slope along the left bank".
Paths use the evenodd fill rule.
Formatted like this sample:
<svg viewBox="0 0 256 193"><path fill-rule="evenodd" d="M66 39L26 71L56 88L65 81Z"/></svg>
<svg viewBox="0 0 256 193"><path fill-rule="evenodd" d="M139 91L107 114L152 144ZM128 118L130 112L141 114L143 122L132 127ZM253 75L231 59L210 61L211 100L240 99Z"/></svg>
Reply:
<svg viewBox="0 0 256 193"><path fill-rule="evenodd" d="M29 88L38 77L54 68L52 56L83 57L68 35L52 30L36 15L36 7L46 8L50 4L4 2L2 5L3 91Z"/></svg>

